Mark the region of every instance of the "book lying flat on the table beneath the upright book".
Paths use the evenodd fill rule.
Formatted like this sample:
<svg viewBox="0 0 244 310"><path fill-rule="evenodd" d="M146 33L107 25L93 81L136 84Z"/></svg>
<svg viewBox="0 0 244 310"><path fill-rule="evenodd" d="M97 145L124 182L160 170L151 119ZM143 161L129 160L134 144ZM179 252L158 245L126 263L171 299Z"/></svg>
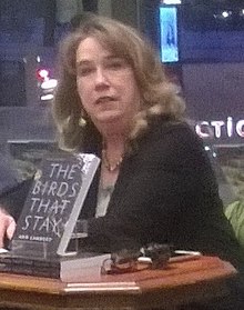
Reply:
<svg viewBox="0 0 244 310"><path fill-rule="evenodd" d="M55 257L49 259L0 254L0 272L60 279L73 282L90 276L99 277L103 262L111 258L109 253L82 252L74 257Z"/></svg>

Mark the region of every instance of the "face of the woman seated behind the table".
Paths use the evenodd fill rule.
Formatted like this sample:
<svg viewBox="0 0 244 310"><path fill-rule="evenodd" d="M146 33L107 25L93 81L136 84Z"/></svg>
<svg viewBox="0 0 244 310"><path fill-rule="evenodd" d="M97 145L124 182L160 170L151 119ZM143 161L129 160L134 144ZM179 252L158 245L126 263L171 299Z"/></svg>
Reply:
<svg viewBox="0 0 244 310"><path fill-rule="evenodd" d="M132 68L92 37L77 50L77 86L82 106L96 126L129 123L140 109Z"/></svg>

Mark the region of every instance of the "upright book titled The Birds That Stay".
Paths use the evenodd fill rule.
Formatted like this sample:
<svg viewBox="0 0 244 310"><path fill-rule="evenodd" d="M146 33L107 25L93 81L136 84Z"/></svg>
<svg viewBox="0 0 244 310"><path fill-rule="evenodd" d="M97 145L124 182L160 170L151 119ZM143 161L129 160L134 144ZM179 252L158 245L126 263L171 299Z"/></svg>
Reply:
<svg viewBox="0 0 244 310"><path fill-rule="evenodd" d="M43 158L10 244L14 254L69 254L68 244L99 162L90 153L59 152Z"/></svg>

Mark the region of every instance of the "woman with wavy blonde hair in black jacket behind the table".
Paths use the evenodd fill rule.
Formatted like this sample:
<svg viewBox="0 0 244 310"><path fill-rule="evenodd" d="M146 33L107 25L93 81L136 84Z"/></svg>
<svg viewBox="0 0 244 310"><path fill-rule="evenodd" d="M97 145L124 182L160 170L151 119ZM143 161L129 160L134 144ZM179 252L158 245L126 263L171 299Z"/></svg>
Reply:
<svg viewBox="0 0 244 310"><path fill-rule="evenodd" d="M83 242L102 251L169 243L241 266L203 143L150 44L92 17L64 39L59 66L60 143L101 158L80 214Z"/></svg>

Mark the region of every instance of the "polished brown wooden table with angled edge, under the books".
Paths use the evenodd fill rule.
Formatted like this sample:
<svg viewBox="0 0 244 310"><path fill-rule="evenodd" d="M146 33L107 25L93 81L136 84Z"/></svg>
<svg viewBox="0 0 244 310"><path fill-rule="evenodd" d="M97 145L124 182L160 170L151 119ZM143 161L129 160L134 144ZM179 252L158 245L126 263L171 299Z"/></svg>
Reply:
<svg viewBox="0 0 244 310"><path fill-rule="evenodd" d="M0 273L0 308L17 309L176 309L228 293L236 270L215 257L171 262L166 269L94 276L78 282ZM80 279L79 279L80 280Z"/></svg>

